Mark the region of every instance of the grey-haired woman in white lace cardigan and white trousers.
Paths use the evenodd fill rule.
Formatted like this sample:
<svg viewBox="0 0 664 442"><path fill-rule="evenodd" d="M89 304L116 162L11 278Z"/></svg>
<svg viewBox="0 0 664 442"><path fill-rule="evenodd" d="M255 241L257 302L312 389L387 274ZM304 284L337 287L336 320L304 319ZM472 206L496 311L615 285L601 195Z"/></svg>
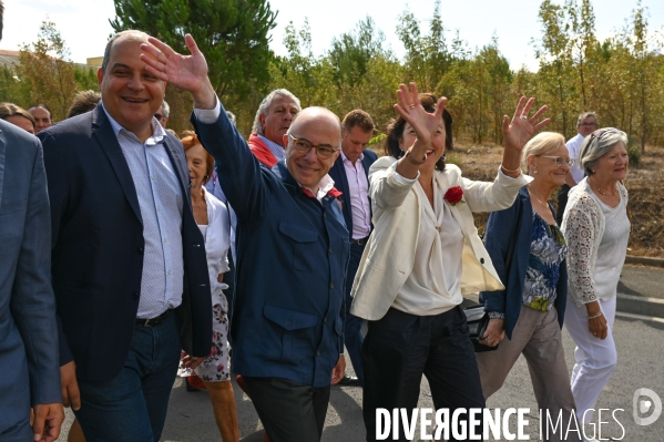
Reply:
<svg viewBox="0 0 664 442"><path fill-rule="evenodd" d="M586 177L570 191L562 232L569 247L565 327L576 343L572 393L580 422L606 386L617 356L613 341L615 298L630 236L627 136L616 129L593 132L581 147Z"/></svg>

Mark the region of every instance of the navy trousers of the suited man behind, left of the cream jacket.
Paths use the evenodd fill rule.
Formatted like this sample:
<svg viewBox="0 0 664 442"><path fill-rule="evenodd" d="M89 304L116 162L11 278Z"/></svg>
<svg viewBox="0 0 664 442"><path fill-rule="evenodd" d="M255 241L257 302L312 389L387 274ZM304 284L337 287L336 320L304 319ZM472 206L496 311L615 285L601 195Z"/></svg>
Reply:
<svg viewBox="0 0 664 442"><path fill-rule="evenodd" d="M350 259L348 260L348 271L346 274L346 317L344 321L344 343L348 350L350 362L353 362L355 374L359 379L361 386L365 384L365 370L362 363L362 343L365 338L361 333L364 319L350 315L350 306L353 305L350 289L353 288L353 281L355 280L355 275L357 274L357 268L359 267L359 261L364 251L364 244L350 245Z"/></svg>

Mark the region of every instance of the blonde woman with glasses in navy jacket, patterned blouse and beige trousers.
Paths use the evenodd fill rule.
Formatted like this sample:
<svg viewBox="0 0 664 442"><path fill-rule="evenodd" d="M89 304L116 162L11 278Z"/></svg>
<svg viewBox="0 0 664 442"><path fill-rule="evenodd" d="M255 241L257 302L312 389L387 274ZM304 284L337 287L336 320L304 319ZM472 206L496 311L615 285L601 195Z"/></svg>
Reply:
<svg viewBox="0 0 664 442"><path fill-rule="evenodd" d="M546 422L546 412L551 422L556 422L559 415L564 422L558 431L543 426L542 435L548 441L580 440L578 432L564 432L574 419L561 338L568 298L568 247L549 203L570 172L564 143L558 133L534 136L523 148L521 161L532 181L521 188L512 207L489 217L486 246L505 289L480 294L491 318L486 343L500 346L494 351L476 353L486 399L502 387L519 356L524 356L542 423ZM508 340L503 340L505 335ZM572 428L576 428L574 422Z"/></svg>

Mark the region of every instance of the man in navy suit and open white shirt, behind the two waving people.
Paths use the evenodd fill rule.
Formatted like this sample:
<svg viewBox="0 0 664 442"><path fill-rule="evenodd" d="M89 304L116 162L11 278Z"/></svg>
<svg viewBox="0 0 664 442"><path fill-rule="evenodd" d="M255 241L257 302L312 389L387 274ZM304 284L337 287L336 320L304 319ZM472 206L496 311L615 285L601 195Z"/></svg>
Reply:
<svg viewBox="0 0 664 442"><path fill-rule="evenodd" d="M364 386L362 369L362 320L350 315L350 289L365 251L365 245L371 233L371 202L369 199L369 167L376 161L376 154L367 150L374 135L371 116L356 109L348 112L341 122L341 154L329 171L329 176L341 191L344 219L350 240L350 260L346 276L346 320L344 337L346 349L350 356L356 377L345 374L339 381L341 386Z"/></svg>

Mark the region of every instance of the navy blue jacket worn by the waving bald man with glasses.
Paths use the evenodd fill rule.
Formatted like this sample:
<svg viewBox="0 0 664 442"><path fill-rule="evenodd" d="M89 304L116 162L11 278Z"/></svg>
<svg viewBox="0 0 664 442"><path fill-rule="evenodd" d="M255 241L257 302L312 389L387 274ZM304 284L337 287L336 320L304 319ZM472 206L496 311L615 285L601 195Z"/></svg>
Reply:
<svg viewBox="0 0 664 442"><path fill-rule="evenodd" d="M263 166L223 107L192 123L237 215L233 371L329 386L350 249L338 199L306 196L284 162Z"/></svg>

